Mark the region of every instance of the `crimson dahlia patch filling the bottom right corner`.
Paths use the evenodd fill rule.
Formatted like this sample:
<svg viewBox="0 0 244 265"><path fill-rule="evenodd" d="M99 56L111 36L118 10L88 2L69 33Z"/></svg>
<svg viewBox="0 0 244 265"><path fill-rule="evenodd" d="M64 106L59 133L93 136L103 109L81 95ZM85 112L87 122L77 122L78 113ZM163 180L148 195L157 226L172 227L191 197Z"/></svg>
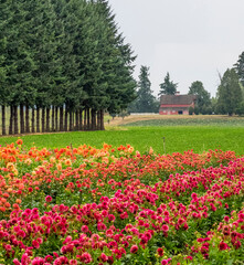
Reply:
<svg viewBox="0 0 244 265"><path fill-rule="evenodd" d="M244 259L244 208L225 215L223 221L188 247L188 254L176 255L171 264L188 264L188 258L195 264L242 264Z"/></svg>

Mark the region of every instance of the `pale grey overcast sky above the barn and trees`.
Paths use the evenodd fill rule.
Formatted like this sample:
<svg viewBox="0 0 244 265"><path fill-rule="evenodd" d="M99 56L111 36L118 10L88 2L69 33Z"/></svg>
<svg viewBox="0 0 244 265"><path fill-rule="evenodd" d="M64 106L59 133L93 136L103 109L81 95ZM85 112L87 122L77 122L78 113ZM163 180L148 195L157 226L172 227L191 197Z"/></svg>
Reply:
<svg viewBox="0 0 244 265"><path fill-rule="evenodd" d="M223 74L244 51L244 0L109 0L120 32L140 65L150 67L155 95L169 72L185 94L194 81L215 96Z"/></svg>

